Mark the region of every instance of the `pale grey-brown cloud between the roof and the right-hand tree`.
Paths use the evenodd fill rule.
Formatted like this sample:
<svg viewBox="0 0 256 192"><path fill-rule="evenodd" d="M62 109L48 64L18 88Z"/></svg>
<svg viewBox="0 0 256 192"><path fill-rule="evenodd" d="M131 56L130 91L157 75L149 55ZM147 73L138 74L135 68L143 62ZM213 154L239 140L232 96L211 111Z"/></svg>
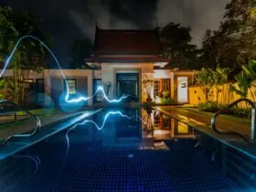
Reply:
<svg viewBox="0 0 256 192"><path fill-rule="evenodd" d="M190 26L193 43L200 46L206 29L217 29L230 0L159 0L155 15L164 26L170 21Z"/></svg>

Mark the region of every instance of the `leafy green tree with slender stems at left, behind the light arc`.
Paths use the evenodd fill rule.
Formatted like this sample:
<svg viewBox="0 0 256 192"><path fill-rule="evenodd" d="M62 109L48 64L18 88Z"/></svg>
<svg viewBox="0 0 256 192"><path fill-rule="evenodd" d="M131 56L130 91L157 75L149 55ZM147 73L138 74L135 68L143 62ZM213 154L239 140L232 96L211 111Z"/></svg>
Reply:
<svg viewBox="0 0 256 192"><path fill-rule="evenodd" d="M40 21L30 13L14 10L10 6L0 6L0 63L4 64L18 39L25 35L38 37L49 44L50 37L42 32L39 26ZM45 67L47 57L46 49L32 39L24 39L17 47L9 66L14 72L13 101L25 105L29 87L26 80L30 70L41 71Z"/></svg>

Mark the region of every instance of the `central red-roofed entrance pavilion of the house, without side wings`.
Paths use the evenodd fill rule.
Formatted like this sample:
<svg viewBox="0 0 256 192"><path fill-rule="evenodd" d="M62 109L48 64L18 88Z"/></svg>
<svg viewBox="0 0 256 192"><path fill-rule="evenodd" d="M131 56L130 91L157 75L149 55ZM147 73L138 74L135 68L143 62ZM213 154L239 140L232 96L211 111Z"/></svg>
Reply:
<svg viewBox="0 0 256 192"><path fill-rule="evenodd" d="M146 101L144 80L154 80L154 68L164 67L169 60L160 56L158 29L103 30L96 27L94 50L85 61L101 70L101 82L112 84L109 97L133 95ZM169 81L165 89L169 91ZM153 99L153 89L150 92Z"/></svg>

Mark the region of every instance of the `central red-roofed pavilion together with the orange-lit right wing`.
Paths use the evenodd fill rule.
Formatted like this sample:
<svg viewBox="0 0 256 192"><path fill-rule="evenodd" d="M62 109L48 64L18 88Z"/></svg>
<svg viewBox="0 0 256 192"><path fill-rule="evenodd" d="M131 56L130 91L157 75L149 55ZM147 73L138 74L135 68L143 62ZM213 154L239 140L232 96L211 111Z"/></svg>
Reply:
<svg viewBox="0 0 256 192"><path fill-rule="evenodd" d="M165 92L174 101L187 102L187 83L193 81L194 71L163 69L170 62L161 57L158 27L153 30L105 30L96 27L93 51L85 61L101 71L94 85L108 83L108 96L120 98L133 95L138 101L152 101ZM152 81L150 92L146 80ZM94 86L94 91L95 91Z"/></svg>

